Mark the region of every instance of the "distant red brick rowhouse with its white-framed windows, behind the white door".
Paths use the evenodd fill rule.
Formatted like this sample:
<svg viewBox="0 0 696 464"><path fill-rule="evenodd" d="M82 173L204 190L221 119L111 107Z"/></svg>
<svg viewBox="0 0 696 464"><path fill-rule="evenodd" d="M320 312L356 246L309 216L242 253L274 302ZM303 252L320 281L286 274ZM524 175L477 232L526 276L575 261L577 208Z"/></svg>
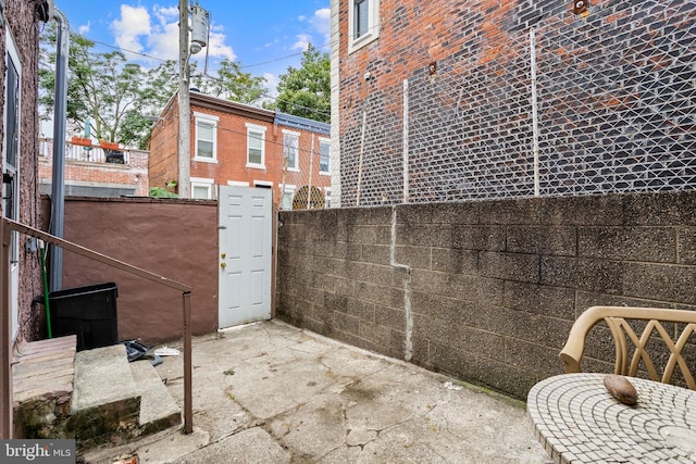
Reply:
<svg viewBox="0 0 696 464"><path fill-rule="evenodd" d="M303 117L190 92L191 198L215 198L220 185L272 188L283 209L323 208L331 193L330 126ZM152 128L151 187L178 178L176 95Z"/></svg>

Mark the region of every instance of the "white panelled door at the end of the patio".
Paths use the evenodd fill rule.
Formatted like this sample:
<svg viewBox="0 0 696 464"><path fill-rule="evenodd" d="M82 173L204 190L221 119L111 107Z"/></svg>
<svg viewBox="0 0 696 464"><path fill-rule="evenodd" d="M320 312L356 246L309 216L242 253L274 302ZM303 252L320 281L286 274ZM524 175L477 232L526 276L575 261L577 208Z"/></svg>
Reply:
<svg viewBox="0 0 696 464"><path fill-rule="evenodd" d="M272 190L220 186L220 328L271 318Z"/></svg>

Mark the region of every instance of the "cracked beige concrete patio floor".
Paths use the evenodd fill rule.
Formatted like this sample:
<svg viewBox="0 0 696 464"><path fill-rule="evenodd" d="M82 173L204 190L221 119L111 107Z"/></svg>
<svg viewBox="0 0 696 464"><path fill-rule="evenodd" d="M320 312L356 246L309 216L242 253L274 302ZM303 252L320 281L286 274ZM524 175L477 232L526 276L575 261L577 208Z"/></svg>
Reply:
<svg viewBox="0 0 696 464"><path fill-rule="evenodd" d="M194 434L166 430L85 461L550 462L523 403L281 322L197 337L192 362ZM157 369L183 407L182 358Z"/></svg>

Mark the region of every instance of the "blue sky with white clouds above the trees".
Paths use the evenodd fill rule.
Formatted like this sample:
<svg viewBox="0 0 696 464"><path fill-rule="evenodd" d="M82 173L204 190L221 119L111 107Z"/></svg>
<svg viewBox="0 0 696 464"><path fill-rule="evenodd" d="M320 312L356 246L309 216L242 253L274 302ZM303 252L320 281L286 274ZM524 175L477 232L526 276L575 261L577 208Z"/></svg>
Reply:
<svg viewBox="0 0 696 464"><path fill-rule="evenodd" d="M195 0L188 1L189 7ZM288 66L299 66L308 43L328 52L330 0L200 0L210 13L209 68L223 59L268 79L274 90ZM145 66L178 55L178 0L55 0L73 32L108 46L146 54L128 58ZM97 45L96 51L112 50ZM192 60L201 60L203 49ZM260 64L264 63L264 64Z"/></svg>

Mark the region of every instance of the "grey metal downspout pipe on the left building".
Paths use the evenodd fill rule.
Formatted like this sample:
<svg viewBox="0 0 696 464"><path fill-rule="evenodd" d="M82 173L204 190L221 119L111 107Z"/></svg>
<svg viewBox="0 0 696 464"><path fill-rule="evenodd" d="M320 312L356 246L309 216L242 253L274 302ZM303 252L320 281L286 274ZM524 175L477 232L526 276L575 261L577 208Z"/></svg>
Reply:
<svg viewBox="0 0 696 464"><path fill-rule="evenodd" d="M70 24L65 15L53 10L58 23L55 43L55 104L53 106L53 178L51 180L51 226L50 233L63 238L65 212L65 133L67 118L67 54L70 52ZM63 249L51 244L51 269L49 290L63 287Z"/></svg>

